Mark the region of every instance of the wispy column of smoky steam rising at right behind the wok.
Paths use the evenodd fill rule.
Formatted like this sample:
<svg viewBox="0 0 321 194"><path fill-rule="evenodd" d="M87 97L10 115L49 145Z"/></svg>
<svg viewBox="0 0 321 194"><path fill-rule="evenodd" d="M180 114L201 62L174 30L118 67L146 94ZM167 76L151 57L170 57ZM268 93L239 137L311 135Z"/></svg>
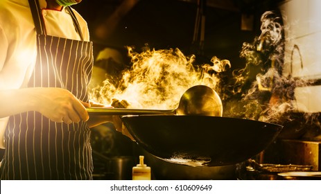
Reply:
<svg viewBox="0 0 321 194"><path fill-rule="evenodd" d="M230 103L229 116L285 126L293 125L290 122L296 120L294 127L297 127L297 130L306 127L304 125L320 128L318 114L297 114L295 88L311 85L312 81L284 73L283 67L288 63L284 61L285 42L281 17L275 12L265 12L261 16L261 35L256 37L252 44L243 44L240 57L245 58L245 68L234 71L234 94L240 94L243 103ZM260 72L244 92L246 81L250 79L251 67L259 67ZM238 113L235 114L236 112Z"/></svg>

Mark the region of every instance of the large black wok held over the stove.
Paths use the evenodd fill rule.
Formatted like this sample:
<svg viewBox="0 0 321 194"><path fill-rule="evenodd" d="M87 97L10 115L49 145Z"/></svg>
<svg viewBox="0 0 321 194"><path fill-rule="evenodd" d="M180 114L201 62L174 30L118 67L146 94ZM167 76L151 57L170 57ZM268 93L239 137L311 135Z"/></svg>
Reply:
<svg viewBox="0 0 321 194"><path fill-rule="evenodd" d="M122 121L142 148L188 166L236 164L268 147L282 126L219 116L140 115Z"/></svg>

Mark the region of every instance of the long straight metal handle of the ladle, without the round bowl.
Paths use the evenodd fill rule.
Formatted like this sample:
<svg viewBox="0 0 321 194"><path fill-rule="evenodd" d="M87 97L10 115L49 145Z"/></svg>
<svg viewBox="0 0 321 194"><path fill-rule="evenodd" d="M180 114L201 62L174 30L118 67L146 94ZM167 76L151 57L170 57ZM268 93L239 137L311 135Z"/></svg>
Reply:
<svg viewBox="0 0 321 194"><path fill-rule="evenodd" d="M141 115L141 114L175 114L176 109L127 109L127 108L87 108L89 115Z"/></svg>

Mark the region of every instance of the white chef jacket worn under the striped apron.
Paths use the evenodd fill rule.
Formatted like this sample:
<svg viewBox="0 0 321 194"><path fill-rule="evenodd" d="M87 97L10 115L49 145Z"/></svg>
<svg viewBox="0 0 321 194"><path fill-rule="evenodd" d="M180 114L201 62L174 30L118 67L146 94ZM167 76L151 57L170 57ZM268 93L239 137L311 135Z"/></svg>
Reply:
<svg viewBox="0 0 321 194"><path fill-rule="evenodd" d="M39 0L44 16L46 34L80 40L73 29L73 20L65 8L61 11L46 9L46 0ZM83 40L89 41L87 22L76 10ZM64 22L62 22L64 21ZM26 87L33 73L37 57L35 24L28 0L0 1L0 92L5 89ZM1 133L6 128L8 118L0 118ZM2 139L0 139L1 148Z"/></svg>

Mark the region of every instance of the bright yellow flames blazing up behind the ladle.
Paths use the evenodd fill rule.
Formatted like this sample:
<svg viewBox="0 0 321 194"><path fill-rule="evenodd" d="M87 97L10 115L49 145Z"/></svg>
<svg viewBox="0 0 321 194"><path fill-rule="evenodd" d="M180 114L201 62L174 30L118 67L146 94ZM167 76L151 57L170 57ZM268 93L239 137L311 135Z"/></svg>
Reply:
<svg viewBox="0 0 321 194"><path fill-rule="evenodd" d="M132 108L175 109L180 97L194 85L207 85L220 91L220 72L230 67L228 60L212 58L213 64L196 66L195 56L185 56L180 49L155 50L146 47L136 53L128 47L131 69L123 71L119 85L105 80L94 89L91 98L108 104L112 98L127 100ZM216 73L212 73L215 71Z"/></svg>

